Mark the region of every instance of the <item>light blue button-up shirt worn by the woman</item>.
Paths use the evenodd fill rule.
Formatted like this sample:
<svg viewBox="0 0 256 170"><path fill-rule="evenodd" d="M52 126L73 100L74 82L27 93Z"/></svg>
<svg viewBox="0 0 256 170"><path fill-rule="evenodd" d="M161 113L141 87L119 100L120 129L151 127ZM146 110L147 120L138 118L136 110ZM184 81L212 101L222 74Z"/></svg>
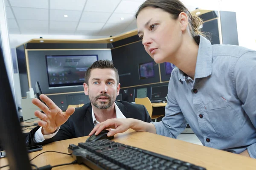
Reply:
<svg viewBox="0 0 256 170"><path fill-rule="evenodd" d="M157 134L176 139L188 123L204 146L256 158L256 51L200 36L195 78L172 71L165 111Z"/></svg>

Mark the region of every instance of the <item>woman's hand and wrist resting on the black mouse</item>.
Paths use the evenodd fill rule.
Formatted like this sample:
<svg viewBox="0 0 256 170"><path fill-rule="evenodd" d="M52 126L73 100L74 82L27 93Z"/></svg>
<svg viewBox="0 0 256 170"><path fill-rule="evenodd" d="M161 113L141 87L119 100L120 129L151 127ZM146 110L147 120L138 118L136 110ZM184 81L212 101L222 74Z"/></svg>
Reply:
<svg viewBox="0 0 256 170"><path fill-rule="evenodd" d="M93 134L98 135L104 129L113 129L108 132L108 136L113 136L116 133L125 132L128 129L133 129L135 131L148 131L151 133L156 133L156 129L152 123L143 122L137 119L108 119L105 122L101 122L96 125L90 132L89 136Z"/></svg>

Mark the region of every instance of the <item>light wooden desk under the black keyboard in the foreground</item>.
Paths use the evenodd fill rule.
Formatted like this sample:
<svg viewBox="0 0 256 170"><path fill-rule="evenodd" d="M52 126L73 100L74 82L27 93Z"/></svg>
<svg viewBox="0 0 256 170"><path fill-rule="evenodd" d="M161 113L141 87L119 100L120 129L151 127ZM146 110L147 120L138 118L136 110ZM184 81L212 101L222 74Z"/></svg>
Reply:
<svg viewBox="0 0 256 170"><path fill-rule="evenodd" d="M67 153L69 144L78 144L85 142L88 136L68 139L51 144L44 145L42 151L29 153L30 159L41 152L47 150L55 150ZM206 167L207 170L255 170L256 159L229 153L222 150L204 147L165 136L156 135L148 132L134 132L128 130L125 133L119 133L113 139L116 142L129 144L131 146L140 147L176 159L188 161L193 164ZM32 161L38 167L47 164L56 165L74 161L71 156L60 153L44 153ZM0 165L7 164L7 159L0 159ZM8 168L6 168L8 169ZM6 170L3 168L3 170ZM2 169L1 169L2 170ZM55 167L54 170L88 170L84 165L73 164L62 167Z"/></svg>

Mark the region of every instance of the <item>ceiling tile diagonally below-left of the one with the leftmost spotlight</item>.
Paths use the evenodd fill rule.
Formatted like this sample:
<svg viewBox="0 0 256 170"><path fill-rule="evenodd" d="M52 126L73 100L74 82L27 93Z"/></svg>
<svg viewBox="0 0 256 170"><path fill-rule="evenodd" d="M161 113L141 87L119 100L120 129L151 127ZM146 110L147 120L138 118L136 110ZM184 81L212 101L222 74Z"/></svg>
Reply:
<svg viewBox="0 0 256 170"><path fill-rule="evenodd" d="M27 29L48 29L48 21L38 21L38 20L18 20L20 28Z"/></svg>

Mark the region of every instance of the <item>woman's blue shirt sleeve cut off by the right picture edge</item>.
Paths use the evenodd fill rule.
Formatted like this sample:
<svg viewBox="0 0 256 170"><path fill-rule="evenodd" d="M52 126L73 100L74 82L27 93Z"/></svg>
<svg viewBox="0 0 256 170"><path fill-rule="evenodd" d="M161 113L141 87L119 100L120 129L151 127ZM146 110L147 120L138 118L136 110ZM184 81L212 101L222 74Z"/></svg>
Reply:
<svg viewBox="0 0 256 170"><path fill-rule="evenodd" d="M256 52L242 55L234 67L234 85L241 106L256 128ZM256 158L256 144L250 145L248 152Z"/></svg>

